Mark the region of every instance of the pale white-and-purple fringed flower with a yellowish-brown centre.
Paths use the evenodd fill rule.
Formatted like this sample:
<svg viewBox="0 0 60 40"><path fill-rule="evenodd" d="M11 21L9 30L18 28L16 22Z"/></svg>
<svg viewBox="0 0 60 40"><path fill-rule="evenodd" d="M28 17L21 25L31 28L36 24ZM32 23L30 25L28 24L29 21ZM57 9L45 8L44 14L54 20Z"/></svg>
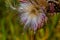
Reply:
<svg viewBox="0 0 60 40"><path fill-rule="evenodd" d="M34 9L34 12L31 12L32 9ZM24 23L24 29L29 27L35 32L38 28L43 27L46 19L43 9L37 12L38 10L36 10L31 3L26 2L21 3L19 11L21 13L21 22Z"/></svg>

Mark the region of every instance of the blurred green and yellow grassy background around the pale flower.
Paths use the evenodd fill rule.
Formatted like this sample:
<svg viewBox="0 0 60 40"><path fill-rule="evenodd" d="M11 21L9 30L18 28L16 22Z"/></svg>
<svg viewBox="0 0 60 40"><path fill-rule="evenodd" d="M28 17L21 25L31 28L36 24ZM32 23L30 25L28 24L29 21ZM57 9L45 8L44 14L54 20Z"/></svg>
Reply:
<svg viewBox="0 0 60 40"><path fill-rule="evenodd" d="M0 40L60 40L60 13L48 16L48 23L36 34L23 31L19 13L10 8L17 7L17 0L0 0Z"/></svg>

